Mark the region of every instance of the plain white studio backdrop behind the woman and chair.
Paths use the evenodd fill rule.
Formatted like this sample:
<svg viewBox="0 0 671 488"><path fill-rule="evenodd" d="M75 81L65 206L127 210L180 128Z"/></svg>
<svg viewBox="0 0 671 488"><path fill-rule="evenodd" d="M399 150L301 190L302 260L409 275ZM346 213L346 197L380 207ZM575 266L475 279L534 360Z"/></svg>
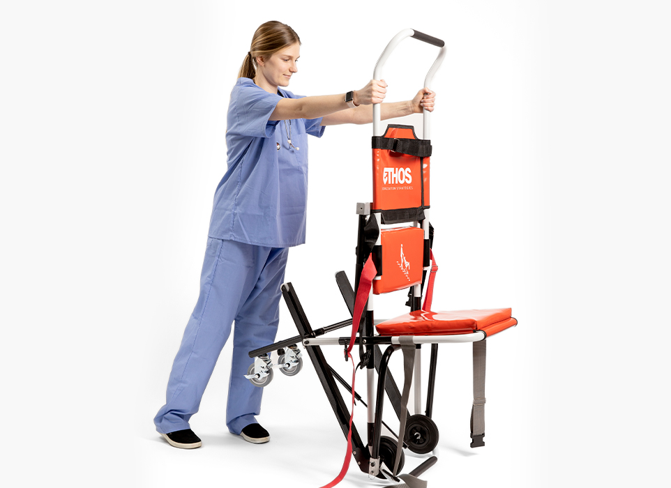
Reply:
<svg viewBox="0 0 671 488"><path fill-rule="evenodd" d="M598 0L3 4L3 478L319 487L338 473L345 441L308 363L266 388L267 445L227 433L231 344L191 422L204 447L169 448L152 423L197 298L229 92L253 31L275 19L301 36L289 89L304 95L362 87L401 29L448 46L432 86L434 303L511 306L520 325L489 341L478 450L470 347L442 347L430 486L658 479L670 434L669 13ZM412 97L436 52L406 40L386 69L388 100ZM333 274L352 277L370 132L310 141L308 243L286 278L313 326L347 317ZM391 316L400 300L376 308ZM295 329L281 307L283 338ZM342 486L379 484L352 467Z"/></svg>

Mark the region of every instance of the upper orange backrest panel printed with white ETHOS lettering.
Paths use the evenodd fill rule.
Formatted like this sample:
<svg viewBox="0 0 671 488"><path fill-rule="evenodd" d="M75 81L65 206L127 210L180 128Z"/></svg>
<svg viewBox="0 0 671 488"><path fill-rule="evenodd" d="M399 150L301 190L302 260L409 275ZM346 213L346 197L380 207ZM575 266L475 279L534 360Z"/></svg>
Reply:
<svg viewBox="0 0 671 488"><path fill-rule="evenodd" d="M387 128L384 137L417 139L412 128ZM422 170L424 206L429 201L430 158L421 158L386 149L372 150L372 209L416 208L422 206Z"/></svg>

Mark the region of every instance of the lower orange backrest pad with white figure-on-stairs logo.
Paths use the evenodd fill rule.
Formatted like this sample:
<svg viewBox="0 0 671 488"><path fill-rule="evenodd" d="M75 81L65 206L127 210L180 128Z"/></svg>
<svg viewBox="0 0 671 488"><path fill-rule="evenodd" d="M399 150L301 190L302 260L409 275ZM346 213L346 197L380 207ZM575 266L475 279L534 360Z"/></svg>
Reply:
<svg viewBox="0 0 671 488"><path fill-rule="evenodd" d="M424 231L419 227L382 229L382 277L372 282L376 295L422 282Z"/></svg>

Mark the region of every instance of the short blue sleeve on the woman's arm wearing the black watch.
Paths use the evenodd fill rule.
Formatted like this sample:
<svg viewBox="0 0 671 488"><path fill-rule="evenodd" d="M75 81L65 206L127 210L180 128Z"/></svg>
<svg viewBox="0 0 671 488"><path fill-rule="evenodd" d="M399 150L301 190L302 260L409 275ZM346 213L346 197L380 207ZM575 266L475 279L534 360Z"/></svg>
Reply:
<svg viewBox="0 0 671 488"><path fill-rule="evenodd" d="M231 93L229 111L234 117L229 119L228 131L250 137L271 137L278 121L269 121L282 97L268 93L251 79L240 78Z"/></svg>

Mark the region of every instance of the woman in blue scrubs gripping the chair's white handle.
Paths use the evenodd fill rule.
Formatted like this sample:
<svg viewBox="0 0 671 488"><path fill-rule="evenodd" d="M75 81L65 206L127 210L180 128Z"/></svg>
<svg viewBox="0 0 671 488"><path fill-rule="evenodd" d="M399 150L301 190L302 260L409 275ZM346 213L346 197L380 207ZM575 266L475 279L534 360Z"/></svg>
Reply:
<svg viewBox="0 0 671 488"><path fill-rule="evenodd" d="M301 41L281 22L266 22L252 38L228 109L228 169L213 204L200 294L169 376L156 430L170 445L197 448L189 427L205 386L235 324L226 425L251 443L270 436L259 414L263 388L244 375L248 351L275 340L280 284L288 248L305 243L308 138L325 125L370 123L386 83L328 96L296 96L285 89L298 71ZM382 119L433 110L435 94L422 89L406 102L384 103Z"/></svg>

